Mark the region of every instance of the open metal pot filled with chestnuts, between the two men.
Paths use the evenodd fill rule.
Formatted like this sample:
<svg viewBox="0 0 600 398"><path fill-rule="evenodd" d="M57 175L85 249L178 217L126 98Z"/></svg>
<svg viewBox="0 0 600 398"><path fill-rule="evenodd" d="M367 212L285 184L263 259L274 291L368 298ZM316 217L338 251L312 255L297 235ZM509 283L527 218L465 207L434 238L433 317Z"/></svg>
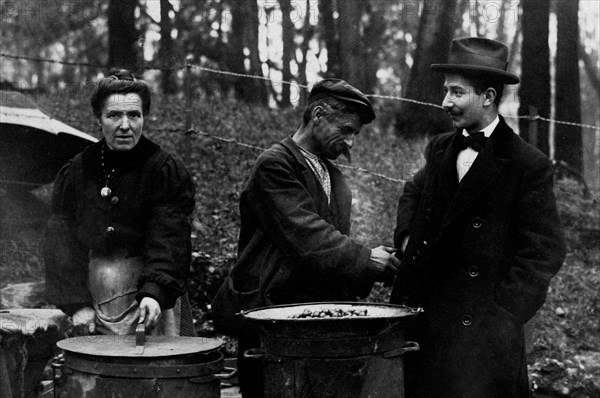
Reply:
<svg viewBox="0 0 600 398"><path fill-rule="evenodd" d="M356 314L299 318L315 312ZM261 331L261 348L246 357L262 361L265 398L404 397L403 354L416 351L404 338L420 310L366 303L310 303L244 313Z"/></svg>

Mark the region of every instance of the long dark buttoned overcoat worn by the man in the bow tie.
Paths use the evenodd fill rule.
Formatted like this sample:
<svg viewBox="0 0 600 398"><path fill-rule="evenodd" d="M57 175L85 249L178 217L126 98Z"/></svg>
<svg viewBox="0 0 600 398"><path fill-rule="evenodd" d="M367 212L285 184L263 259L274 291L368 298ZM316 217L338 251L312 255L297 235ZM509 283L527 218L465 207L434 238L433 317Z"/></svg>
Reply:
<svg viewBox="0 0 600 398"><path fill-rule="evenodd" d="M552 166L501 118L459 183L459 134L430 142L399 200L395 245L410 239L391 302L425 310L406 396L527 397L523 325L565 257Z"/></svg>

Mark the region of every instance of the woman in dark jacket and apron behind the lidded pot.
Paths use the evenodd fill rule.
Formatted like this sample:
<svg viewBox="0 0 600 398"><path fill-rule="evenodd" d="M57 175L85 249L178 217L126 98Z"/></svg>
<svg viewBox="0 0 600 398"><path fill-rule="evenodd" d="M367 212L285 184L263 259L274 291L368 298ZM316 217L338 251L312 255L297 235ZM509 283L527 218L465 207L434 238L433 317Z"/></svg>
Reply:
<svg viewBox="0 0 600 398"><path fill-rule="evenodd" d="M129 71L100 79L91 105L103 139L54 183L47 299L86 333L132 334L143 322L154 334L193 335L181 297L195 188L181 161L143 136L150 103Z"/></svg>

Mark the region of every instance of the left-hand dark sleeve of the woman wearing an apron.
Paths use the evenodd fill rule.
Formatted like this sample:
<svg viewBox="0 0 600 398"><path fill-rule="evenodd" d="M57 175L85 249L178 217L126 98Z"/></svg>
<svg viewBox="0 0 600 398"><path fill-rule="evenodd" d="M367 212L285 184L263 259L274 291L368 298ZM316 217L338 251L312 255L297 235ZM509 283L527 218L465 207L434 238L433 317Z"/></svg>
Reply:
<svg viewBox="0 0 600 398"><path fill-rule="evenodd" d="M88 251L77 240L74 173L74 162L70 161L56 177L44 242L46 300L69 315L91 306Z"/></svg>

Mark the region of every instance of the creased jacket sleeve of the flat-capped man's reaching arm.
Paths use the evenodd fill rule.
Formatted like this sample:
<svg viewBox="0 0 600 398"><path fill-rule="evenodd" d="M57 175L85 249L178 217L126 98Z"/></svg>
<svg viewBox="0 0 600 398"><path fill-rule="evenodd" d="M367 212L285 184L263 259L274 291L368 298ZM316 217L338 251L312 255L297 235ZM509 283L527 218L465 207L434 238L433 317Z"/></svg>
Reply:
<svg viewBox="0 0 600 398"><path fill-rule="evenodd" d="M245 193L256 222L294 264L359 286L373 280L370 249L342 234L317 212L293 167L276 156L259 159Z"/></svg>

